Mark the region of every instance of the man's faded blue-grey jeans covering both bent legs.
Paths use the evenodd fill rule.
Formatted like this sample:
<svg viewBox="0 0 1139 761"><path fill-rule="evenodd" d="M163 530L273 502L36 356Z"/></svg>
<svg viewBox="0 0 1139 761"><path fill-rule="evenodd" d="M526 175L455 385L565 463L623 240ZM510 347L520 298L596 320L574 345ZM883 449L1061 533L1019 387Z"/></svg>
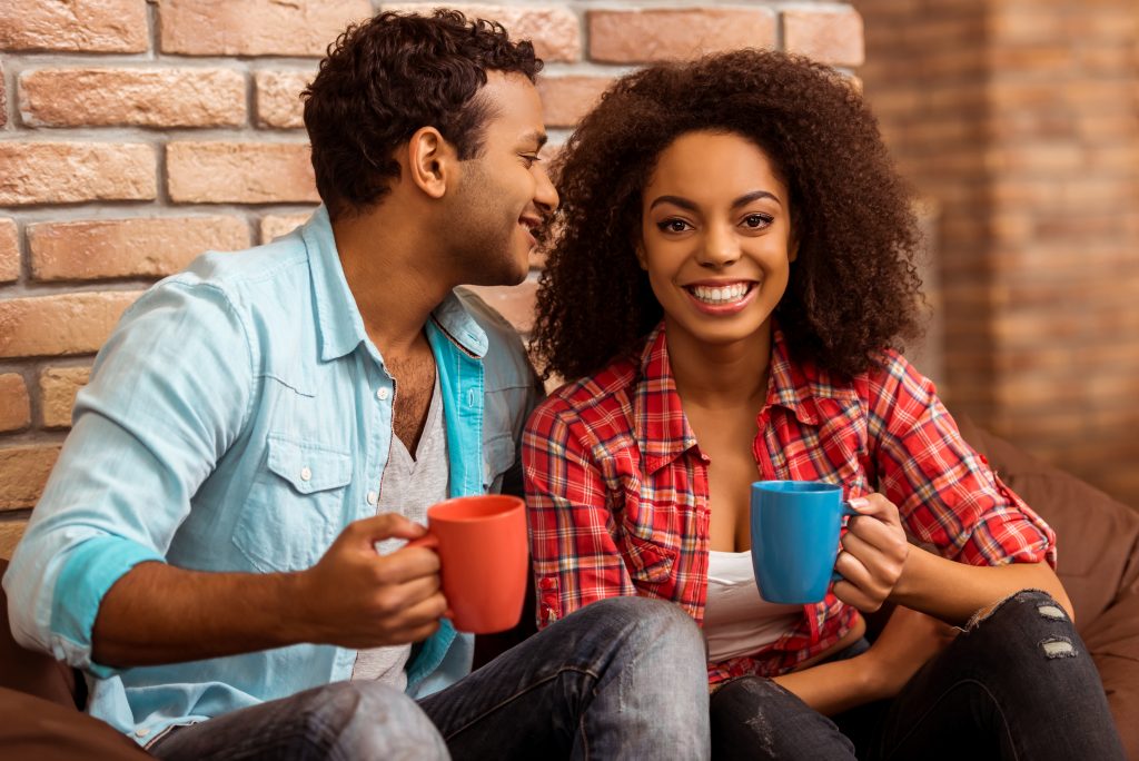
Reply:
<svg viewBox="0 0 1139 761"><path fill-rule="evenodd" d="M704 639L670 603L603 600L418 705L383 685L339 682L173 730L150 751L171 761L707 759Z"/></svg>

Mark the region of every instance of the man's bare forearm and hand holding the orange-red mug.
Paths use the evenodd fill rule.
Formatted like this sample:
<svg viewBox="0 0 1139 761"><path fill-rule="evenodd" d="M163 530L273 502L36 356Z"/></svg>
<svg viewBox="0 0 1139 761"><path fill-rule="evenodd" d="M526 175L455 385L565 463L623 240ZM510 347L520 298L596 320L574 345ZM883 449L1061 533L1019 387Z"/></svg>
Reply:
<svg viewBox="0 0 1139 761"><path fill-rule="evenodd" d="M394 514L358 521L317 565L296 573L203 573L140 563L103 598L93 660L126 668L298 643L366 648L425 639L446 609L439 556L423 547L380 556L374 547L423 534L423 526Z"/></svg>

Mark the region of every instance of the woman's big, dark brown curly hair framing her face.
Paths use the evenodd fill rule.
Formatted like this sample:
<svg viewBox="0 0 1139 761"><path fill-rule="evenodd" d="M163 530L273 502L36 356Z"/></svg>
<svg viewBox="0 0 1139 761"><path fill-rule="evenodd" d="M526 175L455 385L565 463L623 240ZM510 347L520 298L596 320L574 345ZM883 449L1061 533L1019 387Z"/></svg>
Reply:
<svg viewBox="0 0 1139 761"><path fill-rule="evenodd" d="M641 194L661 153L693 131L753 141L788 186L798 257L776 316L796 361L850 377L919 334L920 236L877 121L842 74L738 50L623 76L556 159L558 235L533 336L543 378L636 357L659 322L634 254Z"/></svg>

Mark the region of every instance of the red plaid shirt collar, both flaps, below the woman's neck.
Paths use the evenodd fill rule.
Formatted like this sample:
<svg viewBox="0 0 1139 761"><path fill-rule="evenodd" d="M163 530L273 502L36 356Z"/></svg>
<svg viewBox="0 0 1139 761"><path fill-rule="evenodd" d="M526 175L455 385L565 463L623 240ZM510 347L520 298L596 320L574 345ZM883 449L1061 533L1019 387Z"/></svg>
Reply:
<svg viewBox="0 0 1139 761"><path fill-rule="evenodd" d="M784 407L804 425L819 424L819 399L857 404L850 384L831 383L827 373L811 363L795 363L778 325L771 330L771 374L765 407ZM645 457L646 473L655 473L696 445L669 361L664 321L648 335L640 359L640 380L633 399L636 435Z"/></svg>

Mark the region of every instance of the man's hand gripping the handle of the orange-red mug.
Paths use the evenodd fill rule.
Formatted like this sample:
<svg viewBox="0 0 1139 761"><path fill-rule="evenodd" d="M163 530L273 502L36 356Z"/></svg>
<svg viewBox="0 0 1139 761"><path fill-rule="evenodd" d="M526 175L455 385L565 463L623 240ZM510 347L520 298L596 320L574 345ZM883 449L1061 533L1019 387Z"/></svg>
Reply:
<svg viewBox="0 0 1139 761"><path fill-rule="evenodd" d="M380 556L383 539L417 539L426 530L388 513L350 524L317 565L300 574L298 613L309 641L355 649L407 645L429 637L446 611L439 555L424 547Z"/></svg>

